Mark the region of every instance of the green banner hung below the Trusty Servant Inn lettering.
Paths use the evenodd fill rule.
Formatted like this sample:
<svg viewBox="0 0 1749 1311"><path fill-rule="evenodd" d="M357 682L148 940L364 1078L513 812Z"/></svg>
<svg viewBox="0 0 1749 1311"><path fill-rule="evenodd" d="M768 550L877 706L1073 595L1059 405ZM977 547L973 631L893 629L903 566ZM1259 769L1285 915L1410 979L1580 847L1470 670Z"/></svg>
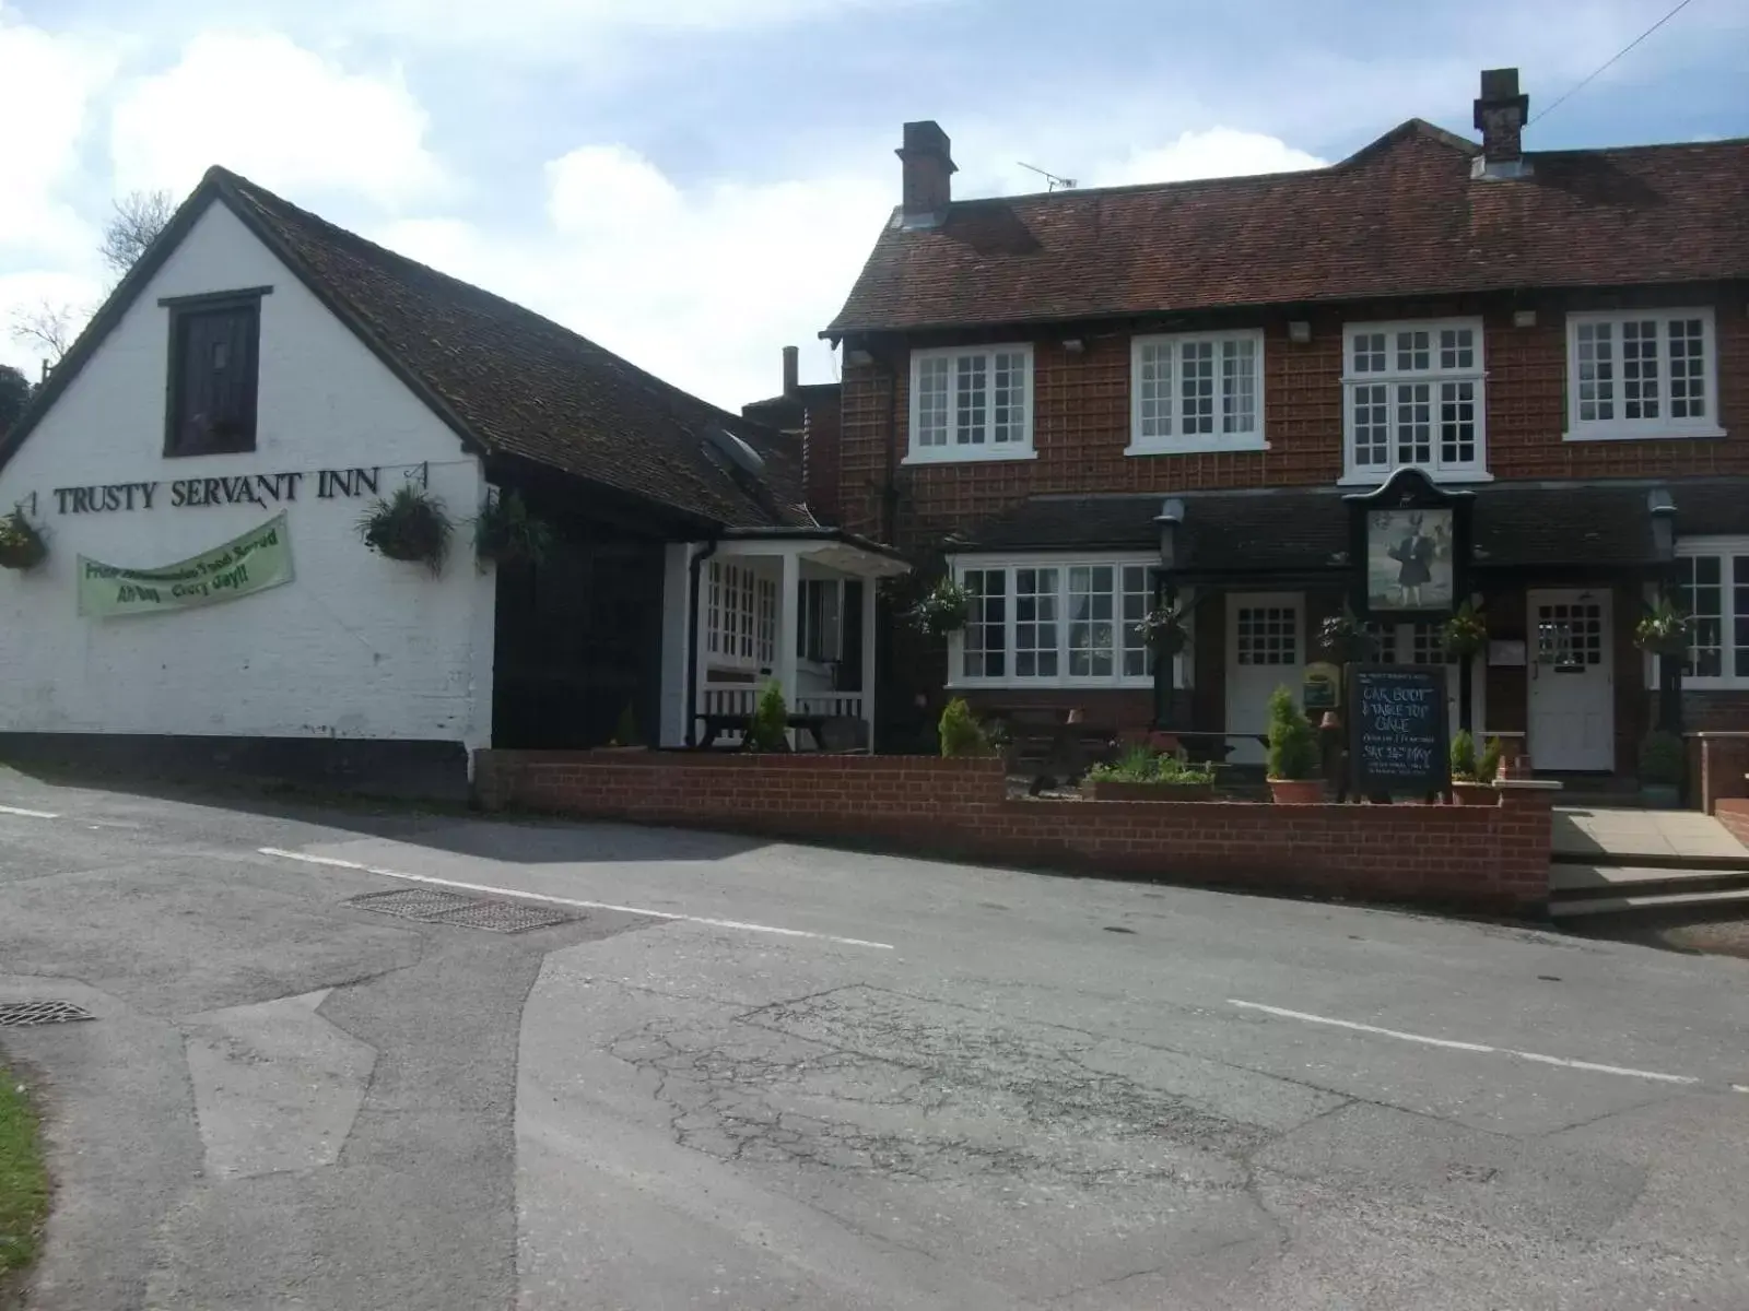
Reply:
<svg viewBox="0 0 1749 1311"><path fill-rule="evenodd" d="M292 580L285 514L175 565L133 570L79 558L79 614L154 615L278 587Z"/></svg>

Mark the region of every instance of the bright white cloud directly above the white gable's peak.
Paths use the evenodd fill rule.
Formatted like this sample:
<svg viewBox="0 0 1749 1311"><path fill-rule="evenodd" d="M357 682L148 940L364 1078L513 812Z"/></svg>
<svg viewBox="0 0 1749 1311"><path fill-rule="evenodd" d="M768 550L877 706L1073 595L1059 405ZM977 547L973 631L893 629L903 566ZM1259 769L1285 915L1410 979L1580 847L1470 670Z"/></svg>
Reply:
<svg viewBox="0 0 1749 1311"><path fill-rule="evenodd" d="M115 187L180 196L224 164L275 191L394 208L442 191L425 133L399 70L348 72L273 33L205 33L115 105Z"/></svg>

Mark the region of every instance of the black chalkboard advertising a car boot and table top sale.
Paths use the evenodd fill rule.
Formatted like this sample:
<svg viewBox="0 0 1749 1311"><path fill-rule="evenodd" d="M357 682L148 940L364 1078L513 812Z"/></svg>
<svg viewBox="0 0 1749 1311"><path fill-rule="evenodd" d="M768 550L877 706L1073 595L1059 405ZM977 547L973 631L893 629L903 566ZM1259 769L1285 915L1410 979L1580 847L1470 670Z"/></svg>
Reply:
<svg viewBox="0 0 1749 1311"><path fill-rule="evenodd" d="M1452 785L1445 668L1357 664L1348 694L1348 771L1361 795Z"/></svg>

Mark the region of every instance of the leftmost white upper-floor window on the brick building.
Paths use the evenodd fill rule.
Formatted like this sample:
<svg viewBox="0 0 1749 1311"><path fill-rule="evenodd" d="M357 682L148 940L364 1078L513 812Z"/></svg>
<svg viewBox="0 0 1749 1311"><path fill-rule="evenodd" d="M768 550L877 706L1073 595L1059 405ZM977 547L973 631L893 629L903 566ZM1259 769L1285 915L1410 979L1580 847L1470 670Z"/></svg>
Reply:
<svg viewBox="0 0 1749 1311"><path fill-rule="evenodd" d="M1032 346L911 351L911 453L930 460L1032 458Z"/></svg>

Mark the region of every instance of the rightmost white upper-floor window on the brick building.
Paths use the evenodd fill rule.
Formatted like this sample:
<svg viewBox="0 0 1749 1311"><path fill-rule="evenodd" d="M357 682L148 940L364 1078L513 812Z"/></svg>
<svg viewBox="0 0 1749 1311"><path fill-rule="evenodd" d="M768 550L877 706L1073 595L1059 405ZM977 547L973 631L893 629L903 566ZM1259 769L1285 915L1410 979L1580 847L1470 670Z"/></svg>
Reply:
<svg viewBox="0 0 1749 1311"><path fill-rule="evenodd" d="M1567 315L1567 440L1723 437L1712 309Z"/></svg>

